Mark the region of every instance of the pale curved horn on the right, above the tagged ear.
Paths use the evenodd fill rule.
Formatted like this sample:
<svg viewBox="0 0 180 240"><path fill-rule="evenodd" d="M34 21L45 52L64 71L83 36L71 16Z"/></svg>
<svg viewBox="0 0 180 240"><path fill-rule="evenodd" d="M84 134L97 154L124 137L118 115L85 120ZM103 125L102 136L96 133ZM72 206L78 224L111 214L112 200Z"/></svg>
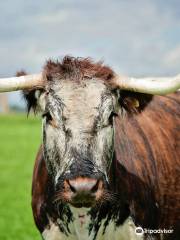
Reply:
<svg viewBox="0 0 180 240"><path fill-rule="evenodd" d="M175 77L131 78L116 75L113 85L133 92L165 95L180 88L180 74Z"/></svg>

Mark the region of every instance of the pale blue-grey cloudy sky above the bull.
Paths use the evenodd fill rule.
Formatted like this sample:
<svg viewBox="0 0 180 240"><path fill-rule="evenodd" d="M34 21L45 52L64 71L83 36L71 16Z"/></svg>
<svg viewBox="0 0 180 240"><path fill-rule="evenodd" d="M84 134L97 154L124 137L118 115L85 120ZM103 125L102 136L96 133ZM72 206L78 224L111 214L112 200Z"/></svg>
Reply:
<svg viewBox="0 0 180 240"><path fill-rule="evenodd" d="M131 76L180 73L179 0L1 0L0 9L1 77L66 54Z"/></svg>

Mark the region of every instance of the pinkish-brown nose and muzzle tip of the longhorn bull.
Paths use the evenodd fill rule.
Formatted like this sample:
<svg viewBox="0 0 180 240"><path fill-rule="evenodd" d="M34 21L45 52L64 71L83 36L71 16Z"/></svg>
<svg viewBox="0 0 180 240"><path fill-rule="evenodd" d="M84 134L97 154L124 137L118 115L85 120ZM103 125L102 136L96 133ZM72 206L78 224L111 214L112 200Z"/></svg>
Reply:
<svg viewBox="0 0 180 240"><path fill-rule="evenodd" d="M65 181L66 191L75 207L90 207L102 195L101 179L77 177Z"/></svg>

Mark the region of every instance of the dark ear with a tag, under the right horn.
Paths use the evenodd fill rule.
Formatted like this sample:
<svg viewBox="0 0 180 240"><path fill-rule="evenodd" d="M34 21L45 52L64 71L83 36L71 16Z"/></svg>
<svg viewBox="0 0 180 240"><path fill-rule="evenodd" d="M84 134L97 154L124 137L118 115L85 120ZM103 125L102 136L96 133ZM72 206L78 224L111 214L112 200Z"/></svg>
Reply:
<svg viewBox="0 0 180 240"><path fill-rule="evenodd" d="M153 95L130 92L130 91L121 91L119 103L121 109L124 109L130 114L139 113L144 110L144 108L150 103Z"/></svg>

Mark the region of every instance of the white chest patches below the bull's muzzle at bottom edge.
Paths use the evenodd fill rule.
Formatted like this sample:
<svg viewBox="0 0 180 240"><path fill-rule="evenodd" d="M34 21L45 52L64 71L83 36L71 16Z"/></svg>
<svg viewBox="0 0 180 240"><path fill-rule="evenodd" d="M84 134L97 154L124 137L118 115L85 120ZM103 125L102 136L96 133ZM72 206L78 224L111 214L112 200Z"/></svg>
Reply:
<svg viewBox="0 0 180 240"><path fill-rule="evenodd" d="M43 237L45 240L93 240L94 234L88 235L88 225L89 225L89 216L87 212L89 209L75 209L71 208L73 216L75 218L74 222L70 224L70 234L68 237L61 233L58 227L51 222L50 228L45 229L43 232ZM85 215L84 224L81 224L81 218L79 216ZM103 226L101 225L96 240L143 240L143 235L137 235L135 233L136 226L132 221L132 218L129 217L126 219L123 225L115 227L113 222L106 228L106 232L103 235Z"/></svg>

